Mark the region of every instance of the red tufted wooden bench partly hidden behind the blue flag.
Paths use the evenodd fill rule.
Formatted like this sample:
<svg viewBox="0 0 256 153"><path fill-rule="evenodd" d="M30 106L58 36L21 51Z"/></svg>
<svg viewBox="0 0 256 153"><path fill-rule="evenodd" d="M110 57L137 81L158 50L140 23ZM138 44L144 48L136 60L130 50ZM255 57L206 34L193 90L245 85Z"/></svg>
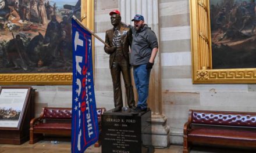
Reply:
<svg viewBox="0 0 256 153"><path fill-rule="evenodd" d="M99 131L101 131L101 114L105 108L97 108ZM44 134L54 134L60 136L71 136L72 108L42 108L41 115L30 121L30 144L42 140ZM95 147L101 145L98 140Z"/></svg>

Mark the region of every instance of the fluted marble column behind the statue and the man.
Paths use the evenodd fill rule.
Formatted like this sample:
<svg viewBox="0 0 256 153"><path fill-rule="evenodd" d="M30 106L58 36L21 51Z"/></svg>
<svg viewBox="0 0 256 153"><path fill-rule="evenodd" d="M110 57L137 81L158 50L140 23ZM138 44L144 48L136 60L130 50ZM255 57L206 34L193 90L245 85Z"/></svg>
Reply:
<svg viewBox="0 0 256 153"><path fill-rule="evenodd" d="M131 25L133 25L131 19L136 14L142 14L145 23L152 28L160 42L158 0L119 0L119 9L122 21ZM159 44L159 46L161 45ZM159 52L161 52L161 48L159 48ZM151 71L148 105L152 110L152 145L157 148L167 148L170 144L170 128L166 125L167 118L162 112L161 57L159 55L158 53Z"/></svg>

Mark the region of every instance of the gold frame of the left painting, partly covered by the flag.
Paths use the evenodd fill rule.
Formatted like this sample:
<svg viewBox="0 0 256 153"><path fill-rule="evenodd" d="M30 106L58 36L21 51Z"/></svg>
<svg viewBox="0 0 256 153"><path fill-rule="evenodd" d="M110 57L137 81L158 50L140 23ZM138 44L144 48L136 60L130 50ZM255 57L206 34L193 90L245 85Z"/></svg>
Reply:
<svg viewBox="0 0 256 153"><path fill-rule="evenodd" d="M83 24L94 28L94 1L77 0L81 2L81 20ZM93 42L94 46L94 42ZM94 49L93 49L94 52ZM72 85L72 72L63 73L15 73L0 74L1 85Z"/></svg>

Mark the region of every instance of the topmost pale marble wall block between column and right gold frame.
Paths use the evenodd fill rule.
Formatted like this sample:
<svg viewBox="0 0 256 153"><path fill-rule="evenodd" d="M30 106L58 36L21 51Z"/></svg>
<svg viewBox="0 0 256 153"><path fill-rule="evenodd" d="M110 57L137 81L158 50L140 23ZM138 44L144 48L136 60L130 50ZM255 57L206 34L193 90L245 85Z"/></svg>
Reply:
<svg viewBox="0 0 256 153"><path fill-rule="evenodd" d="M189 13L189 1L159 3L160 16Z"/></svg>

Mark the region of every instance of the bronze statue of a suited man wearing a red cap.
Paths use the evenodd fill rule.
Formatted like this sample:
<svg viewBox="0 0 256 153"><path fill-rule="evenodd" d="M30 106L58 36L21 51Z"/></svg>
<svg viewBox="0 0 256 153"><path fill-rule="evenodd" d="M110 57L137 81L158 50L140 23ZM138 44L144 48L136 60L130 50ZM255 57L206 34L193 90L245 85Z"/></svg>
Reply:
<svg viewBox="0 0 256 153"><path fill-rule="evenodd" d="M121 22L120 12L113 10L109 13L111 16L111 24L113 28L106 31L105 42L110 46L105 46L104 50L109 54L109 68L111 69L111 77L113 81L114 103L113 112L122 110L122 90L120 82L120 74L122 72L125 81L125 89L127 95L127 104L129 108L135 107L133 86L131 85L131 74L129 64L129 46L132 42L131 29Z"/></svg>

